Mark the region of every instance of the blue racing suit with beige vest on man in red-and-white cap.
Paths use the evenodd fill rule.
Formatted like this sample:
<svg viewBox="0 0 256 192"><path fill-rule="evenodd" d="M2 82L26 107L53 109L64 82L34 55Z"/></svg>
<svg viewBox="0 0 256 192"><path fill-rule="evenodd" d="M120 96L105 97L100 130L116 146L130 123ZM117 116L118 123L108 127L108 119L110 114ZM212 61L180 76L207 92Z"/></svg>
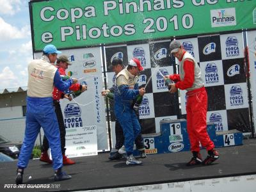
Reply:
<svg viewBox="0 0 256 192"><path fill-rule="evenodd" d="M122 82L118 81L122 79ZM115 115L122 125L124 131L124 146L127 155L133 152L134 140L141 132L140 123L134 110L132 109L132 102L139 95L138 84L135 77L124 68L116 76L115 88Z"/></svg>

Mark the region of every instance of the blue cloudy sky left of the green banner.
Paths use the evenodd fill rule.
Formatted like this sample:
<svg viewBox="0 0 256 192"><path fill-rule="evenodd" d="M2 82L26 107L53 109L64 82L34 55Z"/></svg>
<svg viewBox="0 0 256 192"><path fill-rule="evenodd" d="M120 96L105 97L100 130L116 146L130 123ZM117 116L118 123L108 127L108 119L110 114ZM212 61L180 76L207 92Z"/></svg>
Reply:
<svg viewBox="0 0 256 192"><path fill-rule="evenodd" d="M33 60L29 1L0 0L0 90L27 86Z"/></svg>

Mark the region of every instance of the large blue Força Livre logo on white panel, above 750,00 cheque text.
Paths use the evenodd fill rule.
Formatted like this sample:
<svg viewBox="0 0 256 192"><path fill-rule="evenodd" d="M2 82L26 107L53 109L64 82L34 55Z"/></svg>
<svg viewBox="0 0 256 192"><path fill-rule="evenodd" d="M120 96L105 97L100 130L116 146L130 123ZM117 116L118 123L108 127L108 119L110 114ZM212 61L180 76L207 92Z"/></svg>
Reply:
<svg viewBox="0 0 256 192"><path fill-rule="evenodd" d="M64 109L64 123L65 127L68 128L76 128L76 127L83 127L83 121L81 118L81 109L79 105L76 103L67 104L66 108Z"/></svg>

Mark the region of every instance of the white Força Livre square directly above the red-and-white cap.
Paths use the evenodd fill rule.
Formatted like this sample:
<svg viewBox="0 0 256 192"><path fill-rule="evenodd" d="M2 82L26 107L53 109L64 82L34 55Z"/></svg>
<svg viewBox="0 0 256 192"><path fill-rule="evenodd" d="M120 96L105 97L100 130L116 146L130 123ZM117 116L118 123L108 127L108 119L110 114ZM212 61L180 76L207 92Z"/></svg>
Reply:
<svg viewBox="0 0 256 192"><path fill-rule="evenodd" d="M128 60L138 58L143 68L151 68L150 52L148 44L129 45L127 46Z"/></svg>

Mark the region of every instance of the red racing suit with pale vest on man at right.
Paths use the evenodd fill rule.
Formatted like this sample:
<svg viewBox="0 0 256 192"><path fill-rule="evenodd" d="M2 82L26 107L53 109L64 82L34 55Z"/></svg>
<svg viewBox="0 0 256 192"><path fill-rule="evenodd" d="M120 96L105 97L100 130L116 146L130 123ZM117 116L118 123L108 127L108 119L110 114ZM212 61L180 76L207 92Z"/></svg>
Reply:
<svg viewBox="0 0 256 192"><path fill-rule="evenodd" d="M176 88L188 91L187 129L192 152L200 151L200 143L206 150L214 148L214 143L207 133L207 92L200 74L195 58L184 51L182 59L179 60L179 74L170 76Z"/></svg>

